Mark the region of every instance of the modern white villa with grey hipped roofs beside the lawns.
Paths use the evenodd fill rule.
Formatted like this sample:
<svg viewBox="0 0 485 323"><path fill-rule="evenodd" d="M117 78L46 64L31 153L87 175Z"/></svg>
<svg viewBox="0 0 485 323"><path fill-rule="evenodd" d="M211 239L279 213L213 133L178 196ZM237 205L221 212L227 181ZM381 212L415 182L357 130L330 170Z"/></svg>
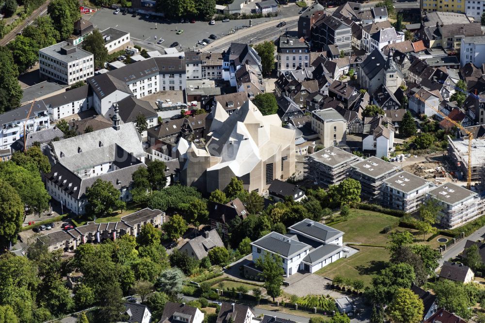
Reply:
<svg viewBox="0 0 485 323"><path fill-rule="evenodd" d="M266 253L282 258L284 275L314 273L343 257L343 232L309 219L288 228L290 236L271 232L251 242L253 261ZM311 240L312 244L302 241Z"/></svg>

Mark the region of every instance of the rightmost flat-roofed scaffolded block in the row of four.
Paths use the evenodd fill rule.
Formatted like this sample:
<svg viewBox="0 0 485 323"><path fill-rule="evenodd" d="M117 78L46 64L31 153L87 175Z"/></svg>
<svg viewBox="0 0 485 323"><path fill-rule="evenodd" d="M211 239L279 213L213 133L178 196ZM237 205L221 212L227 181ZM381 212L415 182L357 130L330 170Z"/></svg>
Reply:
<svg viewBox="0 0 485 323"><path fill-rule="evenodd" d="M431 190L427 197L441 206L438 219L442 226L453 229L473 221L483 213L483 204L477 193L453 183L445 183Z"/></svg>

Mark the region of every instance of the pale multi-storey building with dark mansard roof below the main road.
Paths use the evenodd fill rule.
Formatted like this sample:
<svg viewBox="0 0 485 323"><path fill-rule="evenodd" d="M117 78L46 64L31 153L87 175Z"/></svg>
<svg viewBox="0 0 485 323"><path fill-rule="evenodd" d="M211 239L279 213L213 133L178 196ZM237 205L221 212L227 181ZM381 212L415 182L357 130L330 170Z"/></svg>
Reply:
<svg viewBox="0 0 485 323"><path fill-rule="evenodd" d="M290 35L279 37L278 74L310 66L310 46L303 38Z"/></svg>

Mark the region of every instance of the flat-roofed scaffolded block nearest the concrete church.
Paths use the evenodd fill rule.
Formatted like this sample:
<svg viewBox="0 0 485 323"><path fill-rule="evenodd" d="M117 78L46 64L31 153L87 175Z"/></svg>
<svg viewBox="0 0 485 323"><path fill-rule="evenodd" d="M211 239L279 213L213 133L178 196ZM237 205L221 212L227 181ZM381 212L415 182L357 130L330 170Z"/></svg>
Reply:
<svg viewBox="0 0 485 323"><path fill-rule="evenodd" d="M310 156L307 162L307 176L316 185L328 187L349 177L351 164L360 160L354 154L330 146Z"/></svg>

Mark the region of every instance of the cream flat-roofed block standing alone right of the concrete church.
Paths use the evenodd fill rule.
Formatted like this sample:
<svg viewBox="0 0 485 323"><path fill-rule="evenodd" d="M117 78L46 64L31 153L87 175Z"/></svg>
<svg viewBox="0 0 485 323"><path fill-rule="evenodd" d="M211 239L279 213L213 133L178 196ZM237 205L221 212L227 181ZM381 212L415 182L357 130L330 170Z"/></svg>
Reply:
<svg viewBox="0 0 485 323"><path fill-rule="evenodd" d="M336 146L347 142L347 122L333 108L311 113L311 129L318 133L323 146Z"/></svg>

